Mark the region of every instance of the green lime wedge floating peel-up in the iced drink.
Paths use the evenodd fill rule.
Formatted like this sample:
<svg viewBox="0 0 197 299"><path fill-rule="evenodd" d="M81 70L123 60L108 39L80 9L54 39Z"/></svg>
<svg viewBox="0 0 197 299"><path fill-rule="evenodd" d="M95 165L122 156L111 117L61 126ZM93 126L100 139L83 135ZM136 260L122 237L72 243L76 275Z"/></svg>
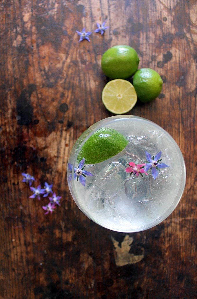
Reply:
<svg viewBox="0 0 197 299"><path fill-rule="evenodd" d="M121 152L128 141L118 131L112 128L98 129L82 146L77 162L85 158L86 164L96 164L105 161Z"/></svg>

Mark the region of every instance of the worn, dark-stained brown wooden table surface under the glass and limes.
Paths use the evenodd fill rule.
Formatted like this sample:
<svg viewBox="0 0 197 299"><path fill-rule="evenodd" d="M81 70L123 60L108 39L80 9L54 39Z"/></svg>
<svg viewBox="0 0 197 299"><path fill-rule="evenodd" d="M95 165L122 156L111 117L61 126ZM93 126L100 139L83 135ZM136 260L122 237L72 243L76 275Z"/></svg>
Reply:
<svg viewBox="0 0 197 299"><path fill-rule="evenodd" d="M196 16L195 0L1 0L0 298L196 298ZM84 27L93 33L79 43ZM174 212L134 234L84 216L66 180L76 139L113 115L101 56L118 44L164 81L128 114L169 132L187 168ZM21 173L53 184L61 206L44 215Z"/></svg>

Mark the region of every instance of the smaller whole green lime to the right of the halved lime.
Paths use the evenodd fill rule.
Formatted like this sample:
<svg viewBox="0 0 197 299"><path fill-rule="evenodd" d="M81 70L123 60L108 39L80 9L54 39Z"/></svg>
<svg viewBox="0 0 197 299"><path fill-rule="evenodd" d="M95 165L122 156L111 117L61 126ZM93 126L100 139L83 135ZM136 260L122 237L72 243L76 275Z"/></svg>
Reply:
<svg viewBox="0 0 197 299"><path fill-rule="evenodd" d="M141 102L154 100L161 92L163 81L151 68L141 68L133 76L133 86Z"/></svg>

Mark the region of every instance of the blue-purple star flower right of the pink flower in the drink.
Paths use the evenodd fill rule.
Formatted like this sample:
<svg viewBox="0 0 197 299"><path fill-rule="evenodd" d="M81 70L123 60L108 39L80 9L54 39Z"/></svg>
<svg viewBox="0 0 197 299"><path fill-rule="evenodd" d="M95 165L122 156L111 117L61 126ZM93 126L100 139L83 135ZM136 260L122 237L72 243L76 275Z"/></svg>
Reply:
<svg viewBox="0 0 197 299"><path fill-rule="evenodd" d="M158 176L158 171L160 171L159 168L165 168L165 167L169 167L168 165L166 165L165 163L159 163L162 159L160 159L161 157L161 151L158 152L156 154L156 156L153 158L151 158L151 155L148 152L146 153L146 158L147 158L147 163L146 163L146 167L144 168L145 171L151 169L152 175L154 180L156 179L156 177Z"/></svg>

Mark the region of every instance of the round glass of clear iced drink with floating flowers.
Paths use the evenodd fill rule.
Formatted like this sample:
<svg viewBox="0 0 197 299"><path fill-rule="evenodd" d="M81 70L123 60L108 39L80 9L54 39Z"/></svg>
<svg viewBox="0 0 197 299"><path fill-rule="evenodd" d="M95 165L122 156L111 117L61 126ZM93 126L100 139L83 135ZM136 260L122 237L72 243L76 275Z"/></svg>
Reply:
<svg viewBox="0 0 197 299"><path fill-rule="evenodd" d="M118 131L126 146L104 161L87 164L81 149L101 128ZM67 177L73 199L87 217L114 231L137 232L173 212L184 191L186 170L178 145L164 129L144 118L119 115L100 120L80 136Z"/></svg>

